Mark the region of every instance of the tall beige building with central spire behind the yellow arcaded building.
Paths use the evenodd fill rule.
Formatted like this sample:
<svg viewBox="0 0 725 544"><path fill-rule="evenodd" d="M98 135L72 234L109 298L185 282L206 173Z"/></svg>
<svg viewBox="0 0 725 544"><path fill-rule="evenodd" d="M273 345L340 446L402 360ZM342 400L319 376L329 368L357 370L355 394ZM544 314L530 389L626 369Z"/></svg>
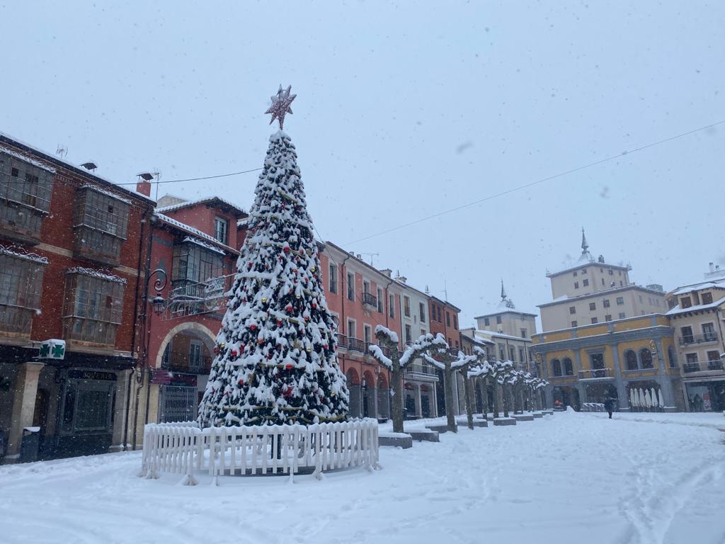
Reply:
<svg viewBox="0 0 725 544"><path fill-rule="evenodd" d="M563 271L547 273L552 301L539 305L543 331L558 331L617 319L663 313L665 293L658 284L641 287L629 280L629 265L606 263L589 252L581 231L581 256Z"/></svg>

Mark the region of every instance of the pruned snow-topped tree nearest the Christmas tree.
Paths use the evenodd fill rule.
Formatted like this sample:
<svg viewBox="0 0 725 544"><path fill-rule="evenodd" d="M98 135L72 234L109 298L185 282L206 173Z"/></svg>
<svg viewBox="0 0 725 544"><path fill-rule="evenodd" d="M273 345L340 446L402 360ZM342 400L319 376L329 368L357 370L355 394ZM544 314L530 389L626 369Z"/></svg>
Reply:
<svg viewBox="0 0 725 544"><path fill-rule="evenodd" d="M423 334L413 344L405 348L405 352L400 353L398 350L398 335L395 331L391 331L382 325L375 328L375 337L380 345L370 345L368 350L373 358L388 368L390 371L390 382L392 385L392 419L393 432L403 432L403 371L405 367L412 363L413 360L423 357L433 351L445 349L448 347L442 334L434 337L432 334Z"/></svg>

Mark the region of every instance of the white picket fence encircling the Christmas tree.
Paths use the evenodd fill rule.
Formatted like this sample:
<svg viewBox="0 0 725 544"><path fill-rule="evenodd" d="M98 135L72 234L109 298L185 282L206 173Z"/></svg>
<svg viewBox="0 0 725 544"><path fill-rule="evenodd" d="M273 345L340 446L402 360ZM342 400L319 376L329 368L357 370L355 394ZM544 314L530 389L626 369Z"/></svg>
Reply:
<svg viewBox="0 0 725 544"><path fill-rule="evenodd" d="M310 426L232 426L199 429L194 421L148 424L139 476L157 478L159 472L244 476L297 474L378 466L378 422L359 419Z"/></svg>

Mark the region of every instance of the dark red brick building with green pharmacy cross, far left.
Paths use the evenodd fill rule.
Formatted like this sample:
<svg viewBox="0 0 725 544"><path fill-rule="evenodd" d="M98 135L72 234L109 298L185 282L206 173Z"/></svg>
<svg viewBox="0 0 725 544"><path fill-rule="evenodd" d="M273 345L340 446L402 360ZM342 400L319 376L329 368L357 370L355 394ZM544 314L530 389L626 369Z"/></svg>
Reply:
<svg viewBox="0 0 725 544"><path fill-rule="evenodd" d="M0 135L0 457L120 447L154 202ZM44 340L63 358L38 358ZM30 440L28 441L30 443Z"/></svg>

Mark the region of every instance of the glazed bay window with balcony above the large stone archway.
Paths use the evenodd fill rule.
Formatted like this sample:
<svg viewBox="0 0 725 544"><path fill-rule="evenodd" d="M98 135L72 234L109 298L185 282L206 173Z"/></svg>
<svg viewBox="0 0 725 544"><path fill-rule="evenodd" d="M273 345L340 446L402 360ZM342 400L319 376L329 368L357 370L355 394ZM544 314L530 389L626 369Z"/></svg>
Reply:
<svg viewBox="0 0 725 544"><path fill-rule="evenodd" d="M225 305L223 252L191 237L174 244L169 309L173 316L221 310Z"/></svg>

